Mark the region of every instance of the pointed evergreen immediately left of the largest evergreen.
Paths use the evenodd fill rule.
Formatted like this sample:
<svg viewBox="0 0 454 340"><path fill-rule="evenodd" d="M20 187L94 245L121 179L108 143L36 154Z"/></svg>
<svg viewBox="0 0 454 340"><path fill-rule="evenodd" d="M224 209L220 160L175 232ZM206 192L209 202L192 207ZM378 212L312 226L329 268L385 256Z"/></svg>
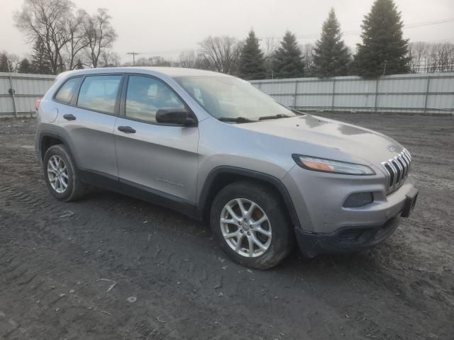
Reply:
<svg viewBox="0 0 454 340"><path fill-rule="evenodd" d="M341 36L341 26L334 8L331 8L328 19L323 23L321 38L317 40L314 48L313 72L316 77L336 77L347 74L350 53Z"/></svg>

